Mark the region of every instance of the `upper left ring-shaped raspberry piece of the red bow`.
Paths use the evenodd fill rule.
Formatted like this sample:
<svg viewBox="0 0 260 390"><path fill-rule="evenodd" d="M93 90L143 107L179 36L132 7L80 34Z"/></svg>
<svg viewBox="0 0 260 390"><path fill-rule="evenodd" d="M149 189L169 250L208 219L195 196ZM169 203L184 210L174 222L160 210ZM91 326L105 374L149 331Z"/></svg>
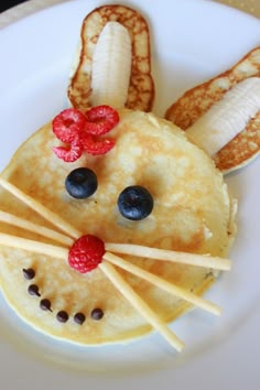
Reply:
<svg viewBox="0 0 260 390"><path fill-rule="evenodd" d="M59 141L71 143L85 128L86 118L76 108L67 108L53 119L53 132Z"/></svg>

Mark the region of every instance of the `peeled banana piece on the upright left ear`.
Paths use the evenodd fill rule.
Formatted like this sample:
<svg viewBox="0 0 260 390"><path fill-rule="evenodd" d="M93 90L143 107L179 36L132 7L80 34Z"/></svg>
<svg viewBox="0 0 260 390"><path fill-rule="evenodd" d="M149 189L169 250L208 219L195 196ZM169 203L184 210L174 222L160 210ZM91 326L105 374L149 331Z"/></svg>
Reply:
<svg viewBox="0 0 260 390"><path fill-rule="evenodd" d="M131 40L118 22L102 29L93 56L91 104L122 108L128 98L131 75Z"/></svg>

